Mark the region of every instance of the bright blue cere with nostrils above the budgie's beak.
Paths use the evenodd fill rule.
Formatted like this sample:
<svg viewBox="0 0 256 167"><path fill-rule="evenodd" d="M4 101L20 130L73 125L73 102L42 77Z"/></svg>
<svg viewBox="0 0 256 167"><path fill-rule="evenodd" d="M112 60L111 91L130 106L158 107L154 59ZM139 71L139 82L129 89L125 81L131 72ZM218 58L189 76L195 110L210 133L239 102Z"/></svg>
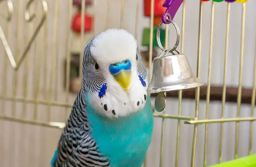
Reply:
<svg viewBox="0 0 256 167"><path fill-rule="evenodd" d="M126 64L125 64L126 63ZM112 75L116 75L122 70L129 71L132 68L131 61L124 60L121 63L110 64L109 71Z"/></svg>

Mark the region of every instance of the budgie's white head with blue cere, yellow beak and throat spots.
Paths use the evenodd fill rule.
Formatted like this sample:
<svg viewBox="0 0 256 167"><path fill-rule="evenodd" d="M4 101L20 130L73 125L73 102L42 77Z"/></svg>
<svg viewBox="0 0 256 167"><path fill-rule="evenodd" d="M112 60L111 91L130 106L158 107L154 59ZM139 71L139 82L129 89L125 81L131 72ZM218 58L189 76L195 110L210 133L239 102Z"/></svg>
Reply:
<svg viewBox="0 0 256 167"><path fill-rule="evenodd" d="M103 116L138 112L147 100L148 76L138 44L124 29L107 29L84 47L82 89L88 105Z"/></svg>

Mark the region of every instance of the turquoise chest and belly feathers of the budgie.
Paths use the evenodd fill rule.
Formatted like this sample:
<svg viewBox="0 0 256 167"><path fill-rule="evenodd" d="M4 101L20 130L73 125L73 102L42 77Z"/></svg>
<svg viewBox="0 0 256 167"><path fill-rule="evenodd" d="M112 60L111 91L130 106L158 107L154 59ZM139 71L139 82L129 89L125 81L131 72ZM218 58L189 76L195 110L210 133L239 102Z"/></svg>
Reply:
<svg viewBox="0 0 256 167"><path fill-rule="evenodd" d="M110 159L111 167L140 167L153 131L150 96L143 110L125 118L109 120L87 106L91 135L99 151Z"/></svg>

